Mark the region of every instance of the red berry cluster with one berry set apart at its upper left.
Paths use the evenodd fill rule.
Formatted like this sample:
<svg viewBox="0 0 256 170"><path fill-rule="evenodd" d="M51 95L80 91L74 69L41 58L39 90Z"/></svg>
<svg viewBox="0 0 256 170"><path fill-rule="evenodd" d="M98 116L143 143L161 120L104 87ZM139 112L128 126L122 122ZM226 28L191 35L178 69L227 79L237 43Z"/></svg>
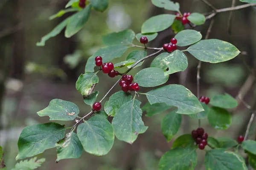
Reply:
<svg viewBox="0 0 256 170"><path fill-rule="evenodd" d="M109 62L109 63L103 63L102 64L102 57L101 56L97 56L95 58L95 65L96 66L102 66L102 72L107 74L108 76L113 78L116 75L119 75L119 72L114 70L114 65L113 63Z"/></svg>

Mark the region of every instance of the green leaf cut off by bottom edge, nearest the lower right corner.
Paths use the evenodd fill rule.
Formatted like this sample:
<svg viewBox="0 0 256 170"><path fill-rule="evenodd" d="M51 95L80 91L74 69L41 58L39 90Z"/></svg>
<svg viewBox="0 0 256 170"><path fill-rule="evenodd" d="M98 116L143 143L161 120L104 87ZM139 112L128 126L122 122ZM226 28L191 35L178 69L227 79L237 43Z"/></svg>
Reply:
<svg viewBox="0 0 256 170"><path fill-rule="evenodd" d="M206 170L247 170L241 156L224 149L207 151L204 158L204 167Z"/></svg>

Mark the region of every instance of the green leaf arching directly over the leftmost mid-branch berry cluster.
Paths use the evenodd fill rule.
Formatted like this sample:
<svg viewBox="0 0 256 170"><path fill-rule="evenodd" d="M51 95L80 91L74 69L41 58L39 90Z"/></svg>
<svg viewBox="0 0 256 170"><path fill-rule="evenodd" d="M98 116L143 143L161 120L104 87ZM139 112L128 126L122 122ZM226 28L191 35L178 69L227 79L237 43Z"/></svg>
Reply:
<svg viewBox="0 0 256 170"><path fill-rule="evenodd" d="M122 45L105 46L100 48L94 55L88 58L85 66L85 72L94 72L95 57L101 56L103 63L110 62L114 58L121 57L127 48L127 46Z"/></svg>

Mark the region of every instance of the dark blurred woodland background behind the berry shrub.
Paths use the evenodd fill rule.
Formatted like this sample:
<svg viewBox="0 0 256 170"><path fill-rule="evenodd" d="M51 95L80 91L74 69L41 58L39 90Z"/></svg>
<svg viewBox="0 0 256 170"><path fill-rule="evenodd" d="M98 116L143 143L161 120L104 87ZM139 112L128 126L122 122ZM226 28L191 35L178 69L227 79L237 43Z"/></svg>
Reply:
<svg viewBox="0 0 256 170"><path fill-rule="evenodd" d="M76 91L75 83L91 55L102 46L101 36L123 29L133 29L140 33L142 23L149 17L172 13L157 8L150 0L109 0L108 9L103 12L93 11L84 28L71 38L64 37L64 32L51 38L44 47L35 46L41 37L50 32L64 18L49 21L48 18L67 4L68 0L0 0L0 145L3 146L5 163L8 169L14 167L17 156L17 139L25 126L48 122L48 117L39 117L36 112L48 106L49 101L59 98L71 101L79 106L80 114L90 110L83 102L81 94ZM201 0L176 0L180 3L181 12L210 12L211 9ZM232 0L209 0L217 9L230 7ZM241 5L236 0L236 5ZM255 69L256 46L256 10L253 7L233 12L231 20L231 34L228 33L229 12L216 15L215 23L209 38L216 38L233 43L242 54L235 59L218 64L203 63L201 69L201 95L211 98L213 95L227 92L237 97L241 92L244 101L254 106L255 84L254 76L250 72ZM209 26L196 30L205 36ZM188 26L189 27L189 26ZM161 47L174 37L171 29L160 32L158 37L149 44L152 47ZM135 40L134 40L135 41ZM126 56L130 51L126 52ZM149 54L150 52L148 52ZM189 67L184 72L170 75L168 84L182 84L196 94L196 72L198 61L186 53ZM113 61L117 63L124 58ZM140 69L148 67L152 59L145 61L131 71L135 75ZM121 71L122 72L122 71ZM109 78L98 74L98 98L102 98L117 78ZM147 92L152 88L142 88ZM113 92L119 90L114 88ZM112 92L112 93L113 93ZM108 96L109 97L109 96ZM140 96L143 106L146 102ZM217 131L209 124L207 119L202 120L202 126L209 136L228 136L237 138L244 134L250 118L248 109L241 104L230 110L233 121L228 130ZM167 112L166 112L167 113ZM55 163L56 149L50 149L38 155L46 158L46 162L39 170L157 170L160 157L169 150L172 142L178 135L190 133L198 127L197 120L186 115L179 133L166 142L161 133L160 123L166 115L162 113L148 118L143 115L143 121L148 130L139 135L133 145L115 139L110 153L106 156L96 157L83 153L79 159L61 160ZM72 126L73 122L58 122ZM255 124L251 127L250 138L254 138ZM204 152L198 151L198 166L202 167Z"/></svg>

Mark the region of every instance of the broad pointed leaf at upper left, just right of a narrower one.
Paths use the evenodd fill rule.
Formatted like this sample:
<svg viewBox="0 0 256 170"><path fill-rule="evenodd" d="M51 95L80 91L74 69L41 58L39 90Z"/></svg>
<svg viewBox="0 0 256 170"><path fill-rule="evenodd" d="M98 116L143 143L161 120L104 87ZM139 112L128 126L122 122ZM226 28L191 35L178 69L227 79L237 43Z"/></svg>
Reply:
<svg viewBox="0 0 256 170"><path fill-rule="evenodd" d="M90 16L91 7L92 5L89 4L85 7L85 9L71 16L70 22L67 24L65 30L65 37L72 37L74 34L79 32Z"/></svg>

